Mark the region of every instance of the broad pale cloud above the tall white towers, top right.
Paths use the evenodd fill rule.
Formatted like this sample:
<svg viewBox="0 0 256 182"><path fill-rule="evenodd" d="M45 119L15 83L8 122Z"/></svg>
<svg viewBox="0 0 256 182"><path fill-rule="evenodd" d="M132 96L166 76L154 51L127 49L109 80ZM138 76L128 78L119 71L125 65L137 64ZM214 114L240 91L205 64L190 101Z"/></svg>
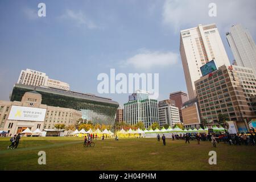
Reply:
<svg viewBox="0 0 256 182"><path fill-rule="evenodd" d="M209 3L215 3L217 6L216 17L208 15ZM242 23L255 35L255 12L255 0L166 0L163 5L162 22L176 33L183 28L209 23L216 23L218 28L229 31L233 24Z"/></svg>

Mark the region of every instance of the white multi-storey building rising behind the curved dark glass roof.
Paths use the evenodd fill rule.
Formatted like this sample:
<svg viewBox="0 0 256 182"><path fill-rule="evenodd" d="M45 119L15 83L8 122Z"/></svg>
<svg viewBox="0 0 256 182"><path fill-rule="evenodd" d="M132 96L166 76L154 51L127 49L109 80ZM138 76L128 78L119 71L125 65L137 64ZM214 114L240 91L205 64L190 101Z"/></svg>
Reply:
<svg viewBox="0 0 256 182"><path fill-rule="evenodd" d="M31 86L47 86L57 89L69 90L69 84L53 80L49 78L46 73L34 71L32 69L22 70L18 79L18 84L31 85Z"/></svg>

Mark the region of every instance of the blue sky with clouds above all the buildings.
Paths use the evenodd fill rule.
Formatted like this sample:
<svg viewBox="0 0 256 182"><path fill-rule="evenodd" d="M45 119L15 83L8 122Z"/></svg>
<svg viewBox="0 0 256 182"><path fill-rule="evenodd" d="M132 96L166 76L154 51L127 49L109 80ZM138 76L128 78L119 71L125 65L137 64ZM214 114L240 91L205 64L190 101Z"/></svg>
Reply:
<svg viewBox="0 0 256 182"><path fill-rule="evenodd" d="M41 2L46 17L38 16ZM208 15L209 3L216 4L216 17ZM255 40L255 9L255 0L1 0L0 100L9 100L26 68L121 106L129 94L98 93L100 73L159 73L158 100L168 99L171 92L187 92L180 30L216 23L232 61L225 33L240 23Z"/></svg>

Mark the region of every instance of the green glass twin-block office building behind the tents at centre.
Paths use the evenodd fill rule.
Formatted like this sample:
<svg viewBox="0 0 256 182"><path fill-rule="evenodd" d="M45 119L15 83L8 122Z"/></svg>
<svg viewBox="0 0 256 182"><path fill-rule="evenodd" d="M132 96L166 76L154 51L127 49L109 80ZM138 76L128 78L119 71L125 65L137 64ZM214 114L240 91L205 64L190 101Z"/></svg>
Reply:
<svg viewBox="0 0 256 182"><path fill-rule="evenodd" d="M142 121L148 129L152 123L159 123L158 101L148 97L148 93L141 90L132 94L133 99L124 104L123 120L128 125L136 125Z"/></svg>

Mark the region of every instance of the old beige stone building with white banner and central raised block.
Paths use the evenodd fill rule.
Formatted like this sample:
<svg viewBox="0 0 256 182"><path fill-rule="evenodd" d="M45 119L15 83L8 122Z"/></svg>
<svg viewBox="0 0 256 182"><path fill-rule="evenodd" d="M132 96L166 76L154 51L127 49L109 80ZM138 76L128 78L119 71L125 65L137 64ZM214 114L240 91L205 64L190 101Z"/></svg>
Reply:
<svg viewBox="0 0 256 182"><path fill-rule="evenodd" d="M81 111L43 105L38 92L26 92L22 101L0 101L0 130L9 135L21 133L26 128L54 129L56 124L75 125Z"/></svg>

